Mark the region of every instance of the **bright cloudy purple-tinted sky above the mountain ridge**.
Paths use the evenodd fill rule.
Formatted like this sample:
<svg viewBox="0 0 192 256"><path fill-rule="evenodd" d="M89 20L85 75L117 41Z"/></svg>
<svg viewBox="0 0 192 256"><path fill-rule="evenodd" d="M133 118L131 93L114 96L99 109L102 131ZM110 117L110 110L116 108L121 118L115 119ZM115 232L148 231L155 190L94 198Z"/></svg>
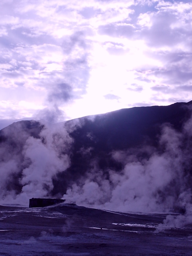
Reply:
<svg viewBox="0 0 192 256"><path fill-rule="evenodd" d="M0 129L192 100L192 3L1 0Z"/></svg>

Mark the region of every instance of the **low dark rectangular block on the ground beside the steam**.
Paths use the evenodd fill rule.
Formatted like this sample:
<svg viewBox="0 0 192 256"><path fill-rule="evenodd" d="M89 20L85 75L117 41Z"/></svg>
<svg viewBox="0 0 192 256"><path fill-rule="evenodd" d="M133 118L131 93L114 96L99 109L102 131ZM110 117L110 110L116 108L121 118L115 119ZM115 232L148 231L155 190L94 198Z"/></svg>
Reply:
<svg viewBox="0 0 192 256"><path fill-rule="evenodd" d="M53 204L64 203L64 199L56 199L56 198L31 198L29 199L29 208L35 207L45 207Z"/></svg>

